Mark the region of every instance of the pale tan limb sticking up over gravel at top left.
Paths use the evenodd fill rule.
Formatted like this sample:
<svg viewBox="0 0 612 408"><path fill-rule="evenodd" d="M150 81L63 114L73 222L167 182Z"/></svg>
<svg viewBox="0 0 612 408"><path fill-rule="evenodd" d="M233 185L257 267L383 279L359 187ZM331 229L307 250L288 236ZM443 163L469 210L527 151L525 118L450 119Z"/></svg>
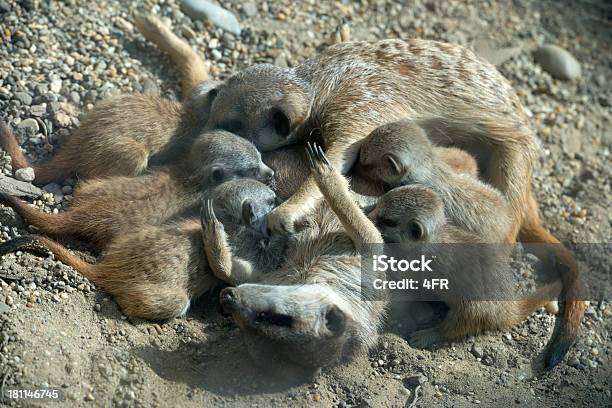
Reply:
<svg viewBox="0 0 612 408"><path fill-rule="evenodd" d="M164 23L152 14L135 14L134 22L140 33L168 54L181 72L183 98L191 94L195 86L209 80L209 65L185 41L177 37Z"/></svg>

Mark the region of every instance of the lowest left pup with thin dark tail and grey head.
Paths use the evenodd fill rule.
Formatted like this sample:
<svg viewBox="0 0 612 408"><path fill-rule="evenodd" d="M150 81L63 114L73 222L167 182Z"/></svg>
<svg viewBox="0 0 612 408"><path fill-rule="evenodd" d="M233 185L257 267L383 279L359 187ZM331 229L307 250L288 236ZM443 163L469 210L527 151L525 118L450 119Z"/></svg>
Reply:
<svg viewBox="0 0 612 408"><path fill-rule="evenodd" d="M215 188L210 199L232 250L241 256L245 268L251 263L251 275L274 269L282 261L284 241L269 242L261 231L262 219L276 205L269 187L256 180L231 180ZM191 299L221 283L207 261L202 224L208 220L140 226L115 237L95 264L37 235L1 244L0 254L18 249L51 251L56 259L113 295L127 316L163 321L184 315ZM231 282L237 277L233 275Z"/></svg>

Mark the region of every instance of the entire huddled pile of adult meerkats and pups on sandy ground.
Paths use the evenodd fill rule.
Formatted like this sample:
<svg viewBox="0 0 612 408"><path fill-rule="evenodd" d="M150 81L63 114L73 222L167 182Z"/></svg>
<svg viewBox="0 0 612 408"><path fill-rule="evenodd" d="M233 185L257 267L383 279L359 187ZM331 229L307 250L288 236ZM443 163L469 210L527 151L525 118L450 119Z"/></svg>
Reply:
<svg viewBox="0 0 612 408"><path fill-rule="evenodd" d="M388 300L362 290L379 277L362 269L368 245L537 242L557 280L512 301L442 295L446 318L410 340L508 328L560 296L545 363L561 361L584 312L578 270L541 225L531 191L536 139L493 66L435 41L346 42L342 26L338 44L293 68L259 64L220 82L157 18L135 20L176 63L182 103L103 101L40 165L0 125L14 170L33 167L37 184L83 180L59 214L0 202L41 234L91 241L100 260L87 263L43 235L0 253L51 251L124 313L150 320L181 316L196 296L229 285L220 302L255 361L312 373L376 342ZM504 292L508 257L443 262L480 268Z"/></svg>

